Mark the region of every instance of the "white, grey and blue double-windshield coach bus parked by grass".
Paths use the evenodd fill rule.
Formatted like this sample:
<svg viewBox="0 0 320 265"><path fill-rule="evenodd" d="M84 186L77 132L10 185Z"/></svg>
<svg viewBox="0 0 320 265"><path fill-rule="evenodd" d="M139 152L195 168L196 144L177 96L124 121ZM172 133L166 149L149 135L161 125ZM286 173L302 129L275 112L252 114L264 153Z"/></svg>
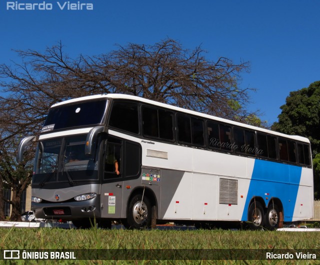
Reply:
<svg viewBox="0 0 320 265"><path fill-rule="evenodd" d="M152 100L103 94L51 106L37 141L36 218L101 227L245 221L257 229L313 215L310 143Z"/></svg>

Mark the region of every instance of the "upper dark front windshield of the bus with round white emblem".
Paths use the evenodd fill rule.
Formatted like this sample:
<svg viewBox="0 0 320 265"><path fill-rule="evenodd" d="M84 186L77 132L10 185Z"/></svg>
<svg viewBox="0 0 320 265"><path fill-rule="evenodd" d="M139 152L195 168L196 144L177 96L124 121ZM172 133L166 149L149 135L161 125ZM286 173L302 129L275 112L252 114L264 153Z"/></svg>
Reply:
<svg viewBox="0 0 320 265"><path fill-rule="evenodd" d="M107 100L93 100L50 108L41 132L102 124Z"/></svg>

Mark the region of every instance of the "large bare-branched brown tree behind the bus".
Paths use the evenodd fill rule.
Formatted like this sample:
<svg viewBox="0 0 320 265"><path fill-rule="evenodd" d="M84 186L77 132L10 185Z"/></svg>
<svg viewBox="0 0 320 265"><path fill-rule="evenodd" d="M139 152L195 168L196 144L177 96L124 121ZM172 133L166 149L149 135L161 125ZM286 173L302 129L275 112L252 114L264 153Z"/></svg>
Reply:
<svg viewBox="0 0 320 265"><path fill-rule="evenodd" d="M17 52L21 63L0 65L2 155L16 147L18 138L40 130L50 105L71 97L125 93L243 122L252 115L245 111L248 89L239 86L248 62L235 64L225 57L210 61L200 46L190 51L164 39L153 45L118 45L105 54L74 59L63 52L61 43L43 53ZM3 177L18 198L25 184L16 179L30 182L31 175L27 163L10 159L3 160ZM18 207L15 199L10 203Z"/></svg>

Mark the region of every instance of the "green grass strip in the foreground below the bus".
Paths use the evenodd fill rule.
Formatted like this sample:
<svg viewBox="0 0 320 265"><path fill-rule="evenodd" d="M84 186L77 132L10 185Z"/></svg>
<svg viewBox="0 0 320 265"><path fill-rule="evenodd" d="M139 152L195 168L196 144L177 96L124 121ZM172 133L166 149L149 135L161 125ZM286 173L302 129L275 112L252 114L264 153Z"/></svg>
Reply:
<svg viewBox="0 0 320 265"><path fill-rule="evenodd" d="M0 228L1 249L88 249L88 253L103 249L187 249L180 254L195 254L190 249L318 249L318 232L279 232L247 230L124 230L124 229L59 229L59 228ZM91 250L90 249L94 249ZM100 250L95 250L100 249ZM141 252L132 250L136 256ZM151 251L151 250L146 250ZM200 251L200 250L199 250ZM211 251L211 250L210 250ZM111 251L112 252L112 251ZM112 252L116 257L119 252ZM145 252L142 251L142 254ZM148 256L146 255L146 258ZM132 258L134 259L134 258ZM2 260L3 261L3 260ZM0 261L1 262L1 261ZM56 261L54 261L56 262ZM243 260L92 260L92 264L241 264ZM47 264L53 260L18 260L5 264ZM88 260L61 260L59 264L87 264ZM248 260L249 264L299 263L306 260Z"/></svg>

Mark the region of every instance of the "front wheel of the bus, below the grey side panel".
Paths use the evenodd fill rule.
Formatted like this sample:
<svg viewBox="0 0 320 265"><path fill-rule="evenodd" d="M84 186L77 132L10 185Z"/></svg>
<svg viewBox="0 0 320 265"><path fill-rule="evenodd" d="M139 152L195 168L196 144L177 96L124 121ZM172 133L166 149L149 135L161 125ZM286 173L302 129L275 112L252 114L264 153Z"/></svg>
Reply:
<svg viewBox="0 0 320 265"><path fill-rule="evenodd" d="M128 206L128 214L126 227L143 228L150 227L151 225L151 204L146 196L143 196L142 208L141 208L142 195L137 194L132 197Z"/></svg>

